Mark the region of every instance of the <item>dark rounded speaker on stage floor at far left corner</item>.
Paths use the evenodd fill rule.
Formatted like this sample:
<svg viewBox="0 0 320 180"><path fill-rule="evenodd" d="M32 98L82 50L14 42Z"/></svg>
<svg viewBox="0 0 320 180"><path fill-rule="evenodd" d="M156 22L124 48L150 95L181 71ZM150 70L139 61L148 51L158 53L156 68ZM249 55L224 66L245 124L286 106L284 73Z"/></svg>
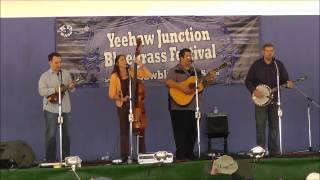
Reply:
<svg viewBox="0 0 320 180"><path fill-rule="evenodd" d="M11 162L19 168L24 168L31 167L34 160L34 152L26 142L17 140L0 143L1 162ZM4 168L6 168L6 166L4 166Z"/></svg>

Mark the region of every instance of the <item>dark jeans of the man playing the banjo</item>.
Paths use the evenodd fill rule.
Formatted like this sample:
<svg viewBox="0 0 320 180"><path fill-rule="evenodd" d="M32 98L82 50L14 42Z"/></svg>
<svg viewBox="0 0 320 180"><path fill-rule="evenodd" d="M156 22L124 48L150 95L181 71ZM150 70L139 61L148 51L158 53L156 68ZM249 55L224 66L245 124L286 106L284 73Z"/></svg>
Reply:
<svg viewBox="0 0 320 180"><path fill-rule="evenodd" d="M270 104L265 107L255 106L257 145L266 148L266 124L268 122L268 150L270 154L279 153L278 132L279 121L277 114L277 105Z"/></svg>

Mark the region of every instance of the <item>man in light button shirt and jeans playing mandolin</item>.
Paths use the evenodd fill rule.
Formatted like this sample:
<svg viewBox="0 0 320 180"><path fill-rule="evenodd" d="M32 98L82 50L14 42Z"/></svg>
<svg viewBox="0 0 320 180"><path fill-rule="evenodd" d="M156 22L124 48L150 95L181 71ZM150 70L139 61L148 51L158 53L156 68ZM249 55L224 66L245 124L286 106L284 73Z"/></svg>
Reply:
<svg viewBox="0 0 320 180"><path fill-rule="evenodd" d="M70 155L70 138L68 132L69 113L71 102L69 92L75 91L75 83L71 79L70 73L61 69L61 55L53 52L48 55L50 69L44 72L39 80L39 94L43 96L43 112L46 127L46 161L56 161L56 134L58 127L59 86L62 91L62 156L63 159Z"/></svg>

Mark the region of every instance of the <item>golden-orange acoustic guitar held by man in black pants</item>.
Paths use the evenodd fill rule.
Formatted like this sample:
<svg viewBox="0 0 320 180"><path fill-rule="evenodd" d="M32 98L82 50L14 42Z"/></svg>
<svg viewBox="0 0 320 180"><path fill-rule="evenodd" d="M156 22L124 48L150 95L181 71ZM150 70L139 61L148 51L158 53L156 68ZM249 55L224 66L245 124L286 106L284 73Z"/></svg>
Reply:
<svg viewBox="0 0 320 180"><path fill-rule="evenodd" d="M206 87L209 83L208 83L208 78L211 74L215 73L217 74L219 72L219 70L225 68L227 66L227 63L224 62L223 64L221 64L219 67L212 69L205 77L204 77L204 81L203 82L199 82L198 83L198 91L202 92L204 87ZM181 91L180 89L176 89L176 88L170 88L169 89L169 94L170 97L180 106L186 106L188 105L194 95L196 94L195 92L195 83L196 82L196 77L195 76L190 76L188 79L181 81L179 83L184 84L186 86L188 86L190 89L193 89L194 92L190 93L190 94L185 94L183 91Z"/></svg>

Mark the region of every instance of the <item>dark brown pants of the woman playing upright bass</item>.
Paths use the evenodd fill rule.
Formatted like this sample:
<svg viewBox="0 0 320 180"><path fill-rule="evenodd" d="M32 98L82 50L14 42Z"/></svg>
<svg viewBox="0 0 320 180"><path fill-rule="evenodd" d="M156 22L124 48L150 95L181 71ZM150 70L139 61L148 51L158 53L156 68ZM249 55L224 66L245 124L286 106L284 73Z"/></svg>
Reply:
<svg viewBox="0 0 320 180"><path fill-rule="evenodd" d="M120 121L121 159L126 160L129 155L129 104L125 103L121 108L117 107L117 112ZM144 139L144 136L139 138L140 153L145 153L146 151Z"/></svg>

